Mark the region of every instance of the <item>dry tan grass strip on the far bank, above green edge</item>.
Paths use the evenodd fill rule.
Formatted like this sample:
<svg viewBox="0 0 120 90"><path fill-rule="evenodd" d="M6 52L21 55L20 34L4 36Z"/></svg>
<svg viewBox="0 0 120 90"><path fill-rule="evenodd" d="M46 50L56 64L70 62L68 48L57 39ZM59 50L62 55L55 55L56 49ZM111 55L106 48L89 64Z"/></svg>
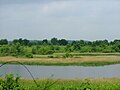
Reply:
<svg viewBox="0 0 120 90"><path fill-rule="evenodd" d="M81 63L106 63L120 62L119 56L81 56L79 58L16 58L16 57L0 57L0 62L19 61L23 63L34 63L39 65L45 64L81 64Z"/></svg>

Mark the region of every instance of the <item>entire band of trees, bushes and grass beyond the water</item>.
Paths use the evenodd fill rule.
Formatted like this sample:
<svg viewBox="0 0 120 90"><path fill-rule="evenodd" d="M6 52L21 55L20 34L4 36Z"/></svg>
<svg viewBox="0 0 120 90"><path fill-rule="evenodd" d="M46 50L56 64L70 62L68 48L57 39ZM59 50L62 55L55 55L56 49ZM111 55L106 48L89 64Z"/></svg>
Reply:
<svg viewBox="0 0 120 90"><path fill-rule="evenodd" d="M52 38L40 41L20 38L8 41L1 39L0 56L0 63L18 60L30 65L117 64L120 63L120 40L71 41Z"/></svg>

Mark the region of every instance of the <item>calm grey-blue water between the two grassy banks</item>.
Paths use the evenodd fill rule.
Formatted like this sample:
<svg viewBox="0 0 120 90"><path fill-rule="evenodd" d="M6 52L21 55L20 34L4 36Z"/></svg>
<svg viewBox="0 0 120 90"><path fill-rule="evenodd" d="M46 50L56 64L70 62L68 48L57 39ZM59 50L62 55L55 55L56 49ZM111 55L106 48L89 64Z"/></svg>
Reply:
<svg viewBox="0 0 120 90"><path fill-rule="evenodd" d="M25 65L34 78L112 78L120 77L120 64L84 67L84 66L37 66ZM0 67L0 76L6 74L19 75L31 79L30 74L22 65L4 65Z"/></svg>

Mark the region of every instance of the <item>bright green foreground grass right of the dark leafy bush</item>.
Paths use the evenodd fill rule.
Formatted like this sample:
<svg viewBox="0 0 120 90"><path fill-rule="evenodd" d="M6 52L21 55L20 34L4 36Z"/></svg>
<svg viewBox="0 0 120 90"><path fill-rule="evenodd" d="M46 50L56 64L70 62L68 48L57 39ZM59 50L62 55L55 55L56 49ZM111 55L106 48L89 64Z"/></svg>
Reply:
<svg viewBox="0 0 120 90"><path fill-rule="evenodd" d="M120 78L101 79L20 79L19 90L119 90ZM15 89L16 90L16 89Z"/></svg>

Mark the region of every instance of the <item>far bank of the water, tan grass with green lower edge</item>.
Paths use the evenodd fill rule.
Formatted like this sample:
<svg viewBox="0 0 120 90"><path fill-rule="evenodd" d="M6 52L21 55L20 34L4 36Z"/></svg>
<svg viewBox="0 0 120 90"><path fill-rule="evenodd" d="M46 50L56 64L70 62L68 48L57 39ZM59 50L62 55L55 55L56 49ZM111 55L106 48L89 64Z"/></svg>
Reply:
<svg viewBox="0 0 120 90"><path fill-rule="evenodd" d="M120 56L82 56L79 58L16 58L11 56L0 57L1 64L9 61L19 61L27 65L104 66L111 64L120 64ZM13 64L13 62L9 64Z"/></svg>

